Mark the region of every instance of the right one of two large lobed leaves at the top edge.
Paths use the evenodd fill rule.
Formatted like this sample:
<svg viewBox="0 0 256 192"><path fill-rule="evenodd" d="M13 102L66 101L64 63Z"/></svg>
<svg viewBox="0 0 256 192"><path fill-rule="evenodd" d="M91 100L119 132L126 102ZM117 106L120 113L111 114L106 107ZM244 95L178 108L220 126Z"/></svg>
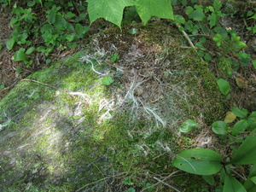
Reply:
<svg viewBox="0 0 256 192"><path fill-rule="evenodd" d="M152 16L163 19L173 19L172 4L170 0L137 0L137 14L146 25Z"/></svg>

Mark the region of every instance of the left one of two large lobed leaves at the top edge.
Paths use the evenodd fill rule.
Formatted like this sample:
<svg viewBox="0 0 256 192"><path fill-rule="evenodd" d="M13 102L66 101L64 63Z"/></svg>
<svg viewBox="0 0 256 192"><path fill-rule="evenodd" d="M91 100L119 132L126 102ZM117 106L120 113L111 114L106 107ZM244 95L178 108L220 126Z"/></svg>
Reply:
<svg viewBox="0 0 256 192"><path fill-rule="evenodd" d="M134 5L132 0L88 0L90 24L99 18L112 22L121 28L125 7Z"/></svg>

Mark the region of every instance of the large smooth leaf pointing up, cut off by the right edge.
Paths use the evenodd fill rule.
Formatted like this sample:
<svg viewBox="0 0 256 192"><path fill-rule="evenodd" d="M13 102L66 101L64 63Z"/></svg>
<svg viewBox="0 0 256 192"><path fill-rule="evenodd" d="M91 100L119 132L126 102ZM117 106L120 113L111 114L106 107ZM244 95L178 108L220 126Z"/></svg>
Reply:
<svg viewBox="0 0 256 192"><path fill-rule="evenodd" d="M230 164L250 165L256 164L256 129L237 148L236 154Z"/></svg>

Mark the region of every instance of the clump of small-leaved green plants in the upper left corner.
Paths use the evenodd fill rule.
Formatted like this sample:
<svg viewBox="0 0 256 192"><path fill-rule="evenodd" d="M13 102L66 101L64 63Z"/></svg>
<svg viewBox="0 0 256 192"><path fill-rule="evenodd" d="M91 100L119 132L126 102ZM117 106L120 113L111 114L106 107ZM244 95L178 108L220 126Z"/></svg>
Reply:
<svg viewBox="0 0 256 192"><path fill-rule="evenodd" d="M43 22L42 26L39 26L38 16L33 13L34 9L32 9L37 7L38 4L46 8L45 19L47 19L47 22ZM68 43L78 41L79 38L83 38L84 34L89 31L88 26L68 22L67 19L73 18L75 15L70 11L66 13L61 11L65 8L57 6L53 1L46 1L44 4L41 0L27 1L27 6L30 8L23 9L17 6L17 3L14 4L13 13L15 16L11 19L10 25L15 30L12 32L11 38L6 41L6 47L9 50L13 49L15 44L24 45L24 47L15 52L14 61L24 61L27 67L32 64L32 61L29 61L27 55L30 55L33 51L42 52L48 56L55 47L61 47L62 44L67 44L69 48L75 48L77 44ZM42 19L40 18L40 20ZM79 20L75 22L79 22ZM30 41L31 37L42 37L44 43L39 44L37 47ZM27 49L32 44L34 44L32 46L33 48Z"/></svg>

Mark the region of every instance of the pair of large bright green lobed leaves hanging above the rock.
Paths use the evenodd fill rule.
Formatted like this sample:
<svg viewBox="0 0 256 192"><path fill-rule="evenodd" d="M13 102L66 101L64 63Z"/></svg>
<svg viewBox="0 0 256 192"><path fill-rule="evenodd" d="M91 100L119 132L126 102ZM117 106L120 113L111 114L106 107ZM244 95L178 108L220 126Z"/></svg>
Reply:
<svg viewBox="0 0 256 192"><path fill-rule="evenodd" d="M121 28L121 21L125 7L135 6L137 14L146 24L151 16L163 19L173 19L172 5L170 0L88 0L88 14L90 24L99 18L112 22Z"/></svg>

